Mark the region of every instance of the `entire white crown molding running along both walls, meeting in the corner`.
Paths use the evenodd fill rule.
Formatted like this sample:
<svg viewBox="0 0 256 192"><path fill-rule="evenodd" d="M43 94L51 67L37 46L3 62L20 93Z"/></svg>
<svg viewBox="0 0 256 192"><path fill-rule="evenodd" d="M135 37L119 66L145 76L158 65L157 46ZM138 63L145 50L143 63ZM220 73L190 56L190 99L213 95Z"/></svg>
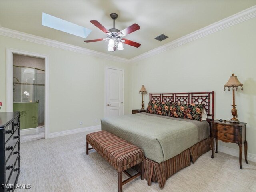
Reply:
<svg viewBox="0 0 256 192"><path fill-rule="evenodd" d="M197 31L194 31L194 32L188 34L188 35L185 35L181 38L178 38L172 42L169 42L163 46L160 46L158 48L150 50L146 53L143 53L143 54L138 55L131 59L112 56L109 54L89 50L86 48L70 45L70 44L55 41L55 40L50 40L47 38L19 32L16 30L11 30L11 29L4 28L4 27L0 28L0 35L17 38L17 39L21 39L21 40L26 40L26 41L30 41L30 42L34 42L34 43L38 43L38 44L48 45L48 46L52 46L52 47L56 47L56 48L60 48L60 49L64 49L64 50L74 51L74 52L78 52L78 53L82 53L82 54L86 54L86 55L90 55L90 56L95 56L95 57L103 58L103 59L107 59L107 60L114 60L114 61L123 62L123 63L133 63L133 62L138 62L140 60L143 60L145 58L149 58L153 55L160 54L167 50L176 48L178 46L181 46L181 45L191 42L193 40L202 38L206 35L209 35L214 32L217 32L219 30L228 28L230 26L233 26L240 22L244 22L244 21L249 20L254 17L256 17L256 6L252 6L246 10L238 12L237 14L234 14L230 17L224 18L223 20L215 22L211 25L208 25L204 28L201 28Z"/></svg>

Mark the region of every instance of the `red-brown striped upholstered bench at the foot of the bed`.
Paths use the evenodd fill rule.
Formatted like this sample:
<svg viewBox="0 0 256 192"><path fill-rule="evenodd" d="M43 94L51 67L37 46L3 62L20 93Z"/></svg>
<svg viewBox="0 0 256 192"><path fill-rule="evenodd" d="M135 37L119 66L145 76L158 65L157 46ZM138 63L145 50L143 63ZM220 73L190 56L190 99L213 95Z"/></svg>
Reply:
<svg viewBox="0 0 256 192"><path fill-rule="evenodd" d="M89 148L88 144L92 146ZM140 176L144 179L144 152L134 144L115 136L107 131L98 131L86 135L86 154L90 149L95 149L118 171L118 192L122 192L122 186L134 178ZM134 176L126 172L127 169L139 164L140 172ZM122 173L129 176L122 181Z"/></svg>

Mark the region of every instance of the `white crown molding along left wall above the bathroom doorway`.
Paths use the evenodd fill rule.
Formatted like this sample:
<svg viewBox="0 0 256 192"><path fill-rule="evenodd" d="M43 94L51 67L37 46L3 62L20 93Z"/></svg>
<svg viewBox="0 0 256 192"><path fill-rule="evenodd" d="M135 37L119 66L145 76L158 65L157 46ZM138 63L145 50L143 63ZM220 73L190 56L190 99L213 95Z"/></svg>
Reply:
<svg viewBox="0 0 256 192"><path fill-rule="evenodd" d="M20 39L20 40L25 40L25 41L29 41L29 42L34 42L34 43L38 43L38 44L42 44L42 45L48 45L51 47L56 47L56 48L60 48L60 49L68 50L68 51L74 51L74 52L78 52L78 53L82 53L82 54L86 54L86 55L90 55L90 56L95 56L95 57L103 58L103 59L107 59L107 60L113 60L113 61L124 62L124 63L128 63L128 61L129 61L128 59L125 59L125 58L108 55L105 53L89 50L89 49L82 48L79 46L74 46L74 45L67 44L64 42L59 42L59 41L47 39L44 37L12 30L12 29L8 29L8 28L4 28L4 27L0 28L0 35L16 38L16 39Z"/></svg>

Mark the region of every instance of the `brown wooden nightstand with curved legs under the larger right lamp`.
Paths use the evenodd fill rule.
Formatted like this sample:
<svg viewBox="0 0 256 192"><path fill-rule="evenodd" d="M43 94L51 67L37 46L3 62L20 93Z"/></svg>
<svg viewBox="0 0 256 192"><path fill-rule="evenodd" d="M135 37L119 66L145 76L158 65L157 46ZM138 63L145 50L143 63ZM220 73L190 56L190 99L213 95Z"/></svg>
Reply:
<svg viewBox="0 0 256 192"><path fill-rule="evenodd" d="M236 143L239 146L239 164L240 169L242 169L242 149L244 144L244 159L247 162L247 141L246 141L246 123L231 123L229 121L214 120L212 121L212 157L213 156L213 146L214 139L216 143L216 151L218 153L218 139L226 143Z"/></svg>

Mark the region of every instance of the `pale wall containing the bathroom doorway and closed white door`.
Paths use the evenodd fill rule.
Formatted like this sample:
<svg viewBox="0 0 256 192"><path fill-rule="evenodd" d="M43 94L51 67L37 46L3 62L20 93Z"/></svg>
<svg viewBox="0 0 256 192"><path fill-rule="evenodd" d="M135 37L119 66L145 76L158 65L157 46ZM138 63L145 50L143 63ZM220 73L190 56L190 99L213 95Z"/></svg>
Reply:
<svg viewBox="0 0 256 192"><path fill-rule="evenodd" d="M6 48L49 56L50 133L100 124L104 117L106 66L124 69L124 114L129 113L128 64L6 36L0 36L0 112L6 111ZM98 123L94 122L96 118Z"/></svg>

